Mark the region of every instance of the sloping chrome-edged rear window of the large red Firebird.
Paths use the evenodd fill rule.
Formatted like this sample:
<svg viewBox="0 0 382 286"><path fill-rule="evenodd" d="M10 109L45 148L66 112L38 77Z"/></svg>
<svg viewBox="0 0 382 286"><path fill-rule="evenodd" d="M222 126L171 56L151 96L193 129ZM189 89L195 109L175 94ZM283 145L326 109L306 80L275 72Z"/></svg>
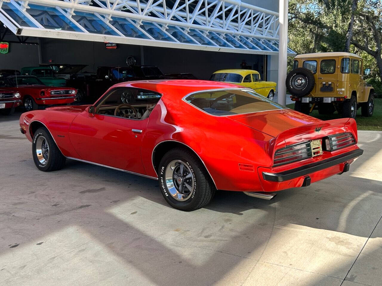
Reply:
<svg viewBox="0 0 382 286"><path fill-rule="evenodd" d="M185 98L193 106L215 116L245 114L266 110L286 109L252 90L212 90Z"/></svg>

